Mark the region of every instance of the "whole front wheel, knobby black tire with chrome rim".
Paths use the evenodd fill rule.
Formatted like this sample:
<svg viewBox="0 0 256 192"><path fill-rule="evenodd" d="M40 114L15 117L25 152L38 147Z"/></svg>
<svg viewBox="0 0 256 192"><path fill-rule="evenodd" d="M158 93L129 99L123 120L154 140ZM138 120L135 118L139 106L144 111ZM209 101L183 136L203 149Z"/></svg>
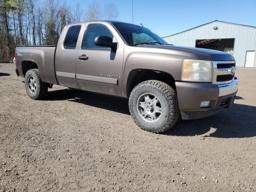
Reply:
<svg viewBox="0 0 256 192"><path fill-rule="evenodd" d="M129 97L129 110L142 130L153 133L170 129L180 116L176 92L157 80L144 81L134 87Z"/></svg>

